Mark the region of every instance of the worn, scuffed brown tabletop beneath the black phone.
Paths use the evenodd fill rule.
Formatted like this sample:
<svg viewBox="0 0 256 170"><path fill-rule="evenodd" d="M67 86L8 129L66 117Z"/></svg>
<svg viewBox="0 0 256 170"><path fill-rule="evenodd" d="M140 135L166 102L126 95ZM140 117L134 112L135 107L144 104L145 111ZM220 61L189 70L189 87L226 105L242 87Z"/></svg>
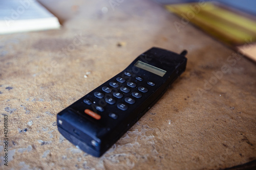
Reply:
<svg viewBox="0 0 256 170"><path fill-rule="evenodd" d="M256 159L256 65L152 1L41 1L60 30L0 37L0 169L220 169ZM51 3L51 4L50 4ZM112 8L113 7L113 8ZM187 69L102 157L75 148L56 114L152 46Z"/></svg>

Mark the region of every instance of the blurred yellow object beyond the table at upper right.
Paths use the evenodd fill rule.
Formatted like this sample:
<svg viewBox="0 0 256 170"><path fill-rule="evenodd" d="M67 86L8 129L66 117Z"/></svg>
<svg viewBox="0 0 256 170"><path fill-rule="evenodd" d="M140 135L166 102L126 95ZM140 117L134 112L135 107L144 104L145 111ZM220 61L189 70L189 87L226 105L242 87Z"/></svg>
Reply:
<svg viewBox="0 0 256 170"><path fill-rule="evenodd" d="M256 40L256 22L212 3L166 5L167 10L181 18L175 22L179 31L188 22L224 41L229 45L244 44Z"/></svg>

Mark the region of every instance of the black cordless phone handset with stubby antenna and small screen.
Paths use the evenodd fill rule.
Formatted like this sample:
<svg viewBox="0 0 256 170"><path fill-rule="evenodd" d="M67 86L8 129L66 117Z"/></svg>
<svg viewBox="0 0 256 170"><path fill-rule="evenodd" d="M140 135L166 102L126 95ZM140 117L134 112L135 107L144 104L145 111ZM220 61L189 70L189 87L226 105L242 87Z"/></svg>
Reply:
<svg viewBox="0 0 256 170"><path fill-rule="evenodd" d="M153 47L115 77L57 114L59 132L100 157L127 132L185 71L181 54Z"/></svg>

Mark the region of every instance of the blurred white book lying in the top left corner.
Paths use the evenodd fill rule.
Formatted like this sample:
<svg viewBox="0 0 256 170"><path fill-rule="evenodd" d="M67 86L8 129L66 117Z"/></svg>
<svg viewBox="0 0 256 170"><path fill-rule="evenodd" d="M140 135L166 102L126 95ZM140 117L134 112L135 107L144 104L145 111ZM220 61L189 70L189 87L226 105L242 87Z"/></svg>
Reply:
<svg viewBox="0 0 256 170"><path fill-rule="evenodd" d="M0 0L0 34L59 28L57 17L35 0Z"/></svg>

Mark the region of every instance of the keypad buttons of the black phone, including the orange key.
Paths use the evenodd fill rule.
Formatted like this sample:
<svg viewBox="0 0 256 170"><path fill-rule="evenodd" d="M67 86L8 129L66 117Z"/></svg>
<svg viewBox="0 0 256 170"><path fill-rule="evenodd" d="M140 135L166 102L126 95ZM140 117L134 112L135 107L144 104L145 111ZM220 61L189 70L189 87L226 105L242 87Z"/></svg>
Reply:
<svg viewBox="0 0 256 170"><path fill-rule="evenodd" d="M96 92L94 92L94 96L96 96L96 98L98 98L100 100L103 99L106 105L108 105L108 104L113 105L113 106L116 106L118 109L125 111L125 110L129 109L130 105L134 105L136 103L136 100L142 98L143 93L148 92L146 85L147 85L147 87L156 85L154 82L147 81L144 83L145 87L140 86L141 83L139 83L139 82L143 82L142 77L135 76L131 72L128 72L128 71L125 71L124 75L126 75L130 78L117 77L116 78L117 82L114 82L114 81L110 82L109 87L103 86L101 88L102 92L100 90L96 91ZM127 82L126 82L126 80L127 80ZM138 84L138 87L137 87L137 84ZM121 86L121 87L119 88L119 86ZM128 86L128 87L125 87L125 86ZM122 99L124 95L125 95L125 98ZM131 96L129 96L129 95L131 95ZM83 103L85 103L87 105L93 105L93 103L95 104L94 101L92 102L89 99L84 99ZM96 109L94 111L103 112L105 110L104 109L105 104L103 106L93 105ZM100 119L100 115L98 115L97 112L94 113L93 111L89 112L88 111L89 109L86 109L86 110L87 111L84 111L84 112L87 113L88 115L91 115L95 119ZM104 114L104 113L101 113L101 114ZM108 116L113 119L118 118L118 114L113 113L113 112L109 112Z"/></svg>

